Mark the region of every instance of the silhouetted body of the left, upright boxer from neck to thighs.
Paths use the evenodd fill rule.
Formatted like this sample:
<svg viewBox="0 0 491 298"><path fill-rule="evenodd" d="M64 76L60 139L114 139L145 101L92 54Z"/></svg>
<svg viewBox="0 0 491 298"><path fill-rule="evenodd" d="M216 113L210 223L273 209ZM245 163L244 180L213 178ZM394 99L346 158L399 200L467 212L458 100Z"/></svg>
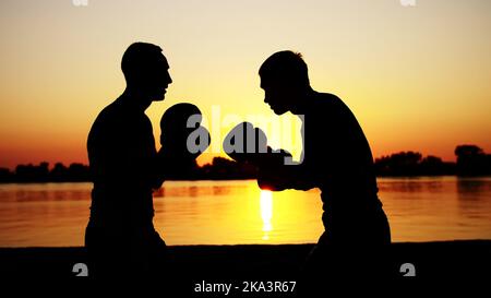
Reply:
<svg viewBox="0 0 491 298"><path fill-rule="evenodd" d="M87 140L92 191L85 234L95 276L142 277L165 270L166 245L153 226L158 186L152 123L120 97L95 120ZM161 182L161 181L160 181Z"/></svg>

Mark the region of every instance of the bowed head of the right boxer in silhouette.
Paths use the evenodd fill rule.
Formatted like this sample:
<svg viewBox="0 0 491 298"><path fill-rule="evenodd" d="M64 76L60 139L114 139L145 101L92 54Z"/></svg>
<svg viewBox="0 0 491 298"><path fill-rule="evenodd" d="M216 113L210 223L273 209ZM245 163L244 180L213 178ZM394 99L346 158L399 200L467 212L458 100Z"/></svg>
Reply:
<svg viewBox="0 0 491 298"><path fill-rule="evenodd" d="M259 74L265 93L264 103L277 115L296 114L298 105L311 91L307 64L299 52L273 53L261 65Z"/></svg>

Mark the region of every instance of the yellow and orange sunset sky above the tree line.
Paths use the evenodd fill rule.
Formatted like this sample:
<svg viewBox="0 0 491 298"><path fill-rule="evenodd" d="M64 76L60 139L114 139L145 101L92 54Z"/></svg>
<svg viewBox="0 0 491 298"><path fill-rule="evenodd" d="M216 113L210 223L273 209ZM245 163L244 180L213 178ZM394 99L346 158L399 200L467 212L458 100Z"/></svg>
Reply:
<svg viewBox="0 0 491 298"><path fill-rule="evenodd" d="M258 75L291 49L314 90L352 109L375 157L453 160L465 143L491 152L490 32L488 0L3 0L0 167L87 163L88 130L124 90L120 61L133 41L159 45L170 64L166 100L147 110L156 140L161 114L183 100L209 118L218 145L227 116L292 119L273 116Z"/></svg>

